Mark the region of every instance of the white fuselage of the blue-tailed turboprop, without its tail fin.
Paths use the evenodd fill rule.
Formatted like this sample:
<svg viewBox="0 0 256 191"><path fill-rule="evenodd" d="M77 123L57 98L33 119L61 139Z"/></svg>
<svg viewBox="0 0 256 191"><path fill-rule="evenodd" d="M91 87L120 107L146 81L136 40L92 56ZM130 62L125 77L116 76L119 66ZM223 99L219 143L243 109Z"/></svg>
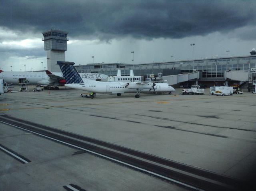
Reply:
<svg viewBox="0 0 256 191"><path fill-rule="evenodd" d="M82 84L66 84L66 87L85 90L88 92L100 94L123 94L123 93L136 93L140 92L173 92L175 91L172 86L167 83L156 83L154 89L152 82L148 84L135 84L134 82L97 82L93 80L84 80Z"/></svg>

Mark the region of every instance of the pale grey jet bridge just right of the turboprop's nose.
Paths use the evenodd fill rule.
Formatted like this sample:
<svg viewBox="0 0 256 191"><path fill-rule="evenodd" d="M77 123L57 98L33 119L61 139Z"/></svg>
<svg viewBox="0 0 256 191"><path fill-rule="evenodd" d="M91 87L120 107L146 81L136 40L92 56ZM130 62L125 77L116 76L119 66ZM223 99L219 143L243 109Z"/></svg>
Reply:
<svg viewBox="0 0 256 191"><path fill-rule="evenodd" d="M180 82L186 82L188 80L198 79L200 78L200 72L163 76L162 78L163 80L167 80L169 85L174 85Z"/></svg>

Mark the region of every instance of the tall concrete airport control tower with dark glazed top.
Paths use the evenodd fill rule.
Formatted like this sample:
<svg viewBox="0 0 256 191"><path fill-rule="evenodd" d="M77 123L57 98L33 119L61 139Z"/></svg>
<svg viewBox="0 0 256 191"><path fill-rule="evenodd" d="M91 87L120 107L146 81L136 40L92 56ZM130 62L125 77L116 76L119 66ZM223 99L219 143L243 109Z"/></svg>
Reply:
<svg viewBox="0 0 256 191"><path fill-rule="evenodd" d="M65 51L67 48L68 32L50 29L42 32L44 38L44 50L47 51L47 70L50 72L61 72L57 61L65 61Z"/></svg>

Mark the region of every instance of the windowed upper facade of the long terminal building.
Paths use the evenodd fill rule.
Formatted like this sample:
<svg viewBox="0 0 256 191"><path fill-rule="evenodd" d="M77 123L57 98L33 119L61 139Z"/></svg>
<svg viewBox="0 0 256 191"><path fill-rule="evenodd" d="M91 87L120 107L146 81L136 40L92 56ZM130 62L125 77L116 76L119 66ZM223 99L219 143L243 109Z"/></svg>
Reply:
<svg viewBox="0 0 256 191"><path fill-rule="evenodd" d="M116 76L117 70L121 69L123 76L128 76L130 70L134 70L136 76L147 76L154 74L158 76L162 72L162 76L168 76L168 70L176 70L175 74L186 74L193 71L202 72L202 78L224 78L224 71L239 70L248 71L251 68L256 68L256 56L238 56L227 58L211 58L200 60L186 60L176 62L159 62L149 64L88 64L76 66L78 72L95 72L109 76Z"/></svg>

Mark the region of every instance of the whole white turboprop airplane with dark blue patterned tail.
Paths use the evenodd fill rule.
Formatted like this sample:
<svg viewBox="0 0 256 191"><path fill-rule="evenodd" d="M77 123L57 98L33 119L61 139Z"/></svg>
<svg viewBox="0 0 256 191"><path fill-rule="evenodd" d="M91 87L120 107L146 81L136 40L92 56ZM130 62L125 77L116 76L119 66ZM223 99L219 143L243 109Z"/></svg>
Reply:
<svg viewBox="0 0 256 191"><path fill-rule="evenodd" d="M167 83L153 82L98 82L94 80L82 79L76 68L74 62L57 62L60 70L66 80L65 86L85 90L88 92L100 94L117 94L121 96L124 93L136 93L135 97L140 97L140 92L169 92L171 94L174 90L172 86Z"/></svg>

